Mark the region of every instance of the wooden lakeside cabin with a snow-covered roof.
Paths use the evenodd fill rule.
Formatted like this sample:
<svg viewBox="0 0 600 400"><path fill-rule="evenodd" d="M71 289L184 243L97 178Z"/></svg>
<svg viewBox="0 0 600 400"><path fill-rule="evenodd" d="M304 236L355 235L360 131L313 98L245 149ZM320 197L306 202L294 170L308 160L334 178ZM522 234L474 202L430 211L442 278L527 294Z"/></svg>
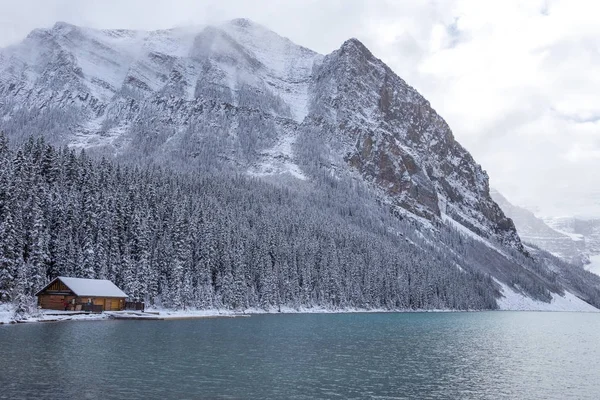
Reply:
<svg viewBox="0 0 600 400"><path fill-rule="evenodd" d="M120 311L127 295L106 279L59 276L35 294L38 305L49 310Z"/></svg>

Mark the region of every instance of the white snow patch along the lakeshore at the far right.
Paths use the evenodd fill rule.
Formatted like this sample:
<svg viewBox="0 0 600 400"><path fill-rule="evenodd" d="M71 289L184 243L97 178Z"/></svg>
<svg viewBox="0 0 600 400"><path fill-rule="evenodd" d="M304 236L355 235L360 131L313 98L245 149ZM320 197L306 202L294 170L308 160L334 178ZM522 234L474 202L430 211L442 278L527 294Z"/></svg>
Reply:
<svg viewBox="0 0 600 400"><path fill-rule="evenodd" d="M514 291L508 285L496 281L502 287L502 296L498 299L498 306L501 310L507 311L588 311L600 312L597 308L581 300L572 293L565 292L564 296L556 293L552 294L552 301L544 303L526 297L521 293Z"/></svg>

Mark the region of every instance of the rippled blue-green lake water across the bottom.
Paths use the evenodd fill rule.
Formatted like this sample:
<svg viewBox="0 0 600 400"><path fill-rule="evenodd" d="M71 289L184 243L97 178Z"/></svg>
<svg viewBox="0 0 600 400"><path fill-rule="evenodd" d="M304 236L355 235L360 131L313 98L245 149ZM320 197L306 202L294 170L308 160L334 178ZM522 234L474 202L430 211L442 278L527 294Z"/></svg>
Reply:
<svg viewBox="0 0 600 400"><path fill-rule="evenodd" d="M267 315L0 327L0 398L598 399L600 315Z"/></svg>

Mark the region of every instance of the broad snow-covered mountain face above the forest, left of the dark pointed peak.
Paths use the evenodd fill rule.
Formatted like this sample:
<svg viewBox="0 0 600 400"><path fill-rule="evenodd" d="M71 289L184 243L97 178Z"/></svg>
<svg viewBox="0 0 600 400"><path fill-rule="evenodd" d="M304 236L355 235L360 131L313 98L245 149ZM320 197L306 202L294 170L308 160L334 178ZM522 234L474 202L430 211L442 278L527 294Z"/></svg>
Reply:
<svg viewBox="0 0 600 400"><path fill-rule="evenodd" d="M244 19L161 31L93 30L57 23L0 51L0 94L6 100L0 103L0 116L8 121L9 132L15 130L11 122L21 130L18 120L24 118L37 125L34 130L56 125L61 143L117 152L131 144L132 131L147 130L148 118L159 118L171 135L191 124L208 123L240 141L246 134L240 129L256 126L252 136L258 137L252 140L258 139L259 148L250 143L249 151L260 157L251 160L249 172L283 171L302 178L291 146L295 134L285 119L300 123L308 113L313 66L322 58ZM226 117L229 126L215 102L240 111ZM30 110L35 118L21 115ZM59 115L39 116L39 110L58 110ZM64 121L56 123L59 118ZM283 119L269 120L273 118ZM162 146L169 148L167 141ZM233 153L227 158L240 161L240 149L227 151ZM285 165L273 169L282 157Z"/></svg>

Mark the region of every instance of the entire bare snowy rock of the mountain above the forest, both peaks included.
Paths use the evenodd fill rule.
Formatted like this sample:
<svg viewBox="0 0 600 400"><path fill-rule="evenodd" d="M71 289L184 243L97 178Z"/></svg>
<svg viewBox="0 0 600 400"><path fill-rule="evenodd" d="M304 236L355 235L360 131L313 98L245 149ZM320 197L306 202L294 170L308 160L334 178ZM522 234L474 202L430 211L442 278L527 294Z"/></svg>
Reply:
<svg viewBox="0 0 600 400"><path fill-rule="evenodd" d="M248 20L154 32L64 23L0 51L0 128L258 176L361 179L397 211L522 249L488 177L358 40L322 56ZM311 164L312 163L312 164Z"/></svg>

